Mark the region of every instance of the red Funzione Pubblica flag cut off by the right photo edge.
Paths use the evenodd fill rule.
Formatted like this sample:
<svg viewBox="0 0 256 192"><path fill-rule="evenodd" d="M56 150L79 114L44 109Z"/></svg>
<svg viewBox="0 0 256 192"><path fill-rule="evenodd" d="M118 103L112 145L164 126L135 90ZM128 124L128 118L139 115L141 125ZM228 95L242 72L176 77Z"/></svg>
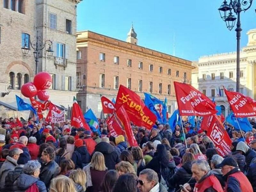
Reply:
<svg viewBox="0 0 256 192"><path fill-rule="evenodd" d="M225 88L224 91L235 117L256 116L256 103L250 97L239 92L228 91Z"/></svg>

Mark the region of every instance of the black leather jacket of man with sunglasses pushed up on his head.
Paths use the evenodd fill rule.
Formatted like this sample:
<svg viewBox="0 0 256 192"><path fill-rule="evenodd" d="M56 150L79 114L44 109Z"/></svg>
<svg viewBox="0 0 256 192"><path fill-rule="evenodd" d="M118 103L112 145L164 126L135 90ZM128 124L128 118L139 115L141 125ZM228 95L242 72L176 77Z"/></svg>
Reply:
<svg viewBox="0 0 256 192"><path fill-rule="evenodd" d="M50 187L52 178L57 176L59 171L59 165L54 160L47 164L42 164L39 178L44 182L46 188Z"/></svg>

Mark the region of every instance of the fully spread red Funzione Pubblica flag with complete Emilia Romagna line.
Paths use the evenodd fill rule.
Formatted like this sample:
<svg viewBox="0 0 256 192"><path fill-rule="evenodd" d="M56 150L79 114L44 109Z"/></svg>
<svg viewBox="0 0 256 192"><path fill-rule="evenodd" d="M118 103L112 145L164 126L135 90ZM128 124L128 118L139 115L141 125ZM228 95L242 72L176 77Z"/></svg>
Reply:
<svg viewBox="0 0 256 192"><path fill-rule="evenodd" d="M174 82L180 116L211 116L217 113L215 104L189 84Z"/></svg>

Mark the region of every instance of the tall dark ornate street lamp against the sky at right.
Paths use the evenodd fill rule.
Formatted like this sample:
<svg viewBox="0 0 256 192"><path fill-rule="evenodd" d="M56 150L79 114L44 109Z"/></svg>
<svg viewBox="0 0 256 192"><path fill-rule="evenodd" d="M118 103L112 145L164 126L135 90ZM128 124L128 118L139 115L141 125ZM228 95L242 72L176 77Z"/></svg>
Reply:
<svg viewBox="0 0 256 192"><path fill-rule="evenodd" d="M230 0L230 3L226 0L221 4L218 9L220 12L220 17L226 22L227 28L232 30L235 26L236 19L236 92L239 92L240 88L240 39L241 39L241 22L240 22L240 13L242 11L248 10L252 6L253 0ZM233 15L232 10L236 13L237 18ZM256 11L256 10L255 10ZM227 16L227 12L228 16Z"/></svg>

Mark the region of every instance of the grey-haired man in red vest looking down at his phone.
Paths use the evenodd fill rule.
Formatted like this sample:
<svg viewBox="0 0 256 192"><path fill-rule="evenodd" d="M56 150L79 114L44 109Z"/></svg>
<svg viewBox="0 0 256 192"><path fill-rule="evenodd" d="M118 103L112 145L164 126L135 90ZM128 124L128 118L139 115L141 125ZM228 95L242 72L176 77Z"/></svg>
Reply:
<svg viewBox="0 0 256 192"><path fill-rule="evenodd" d="M192 162L192 178L196 180L194 191L201 192L223 192L219 180L210 172L207 161L197 160ZM184 184L181 192L192 192L188 183Z"/></svg>

